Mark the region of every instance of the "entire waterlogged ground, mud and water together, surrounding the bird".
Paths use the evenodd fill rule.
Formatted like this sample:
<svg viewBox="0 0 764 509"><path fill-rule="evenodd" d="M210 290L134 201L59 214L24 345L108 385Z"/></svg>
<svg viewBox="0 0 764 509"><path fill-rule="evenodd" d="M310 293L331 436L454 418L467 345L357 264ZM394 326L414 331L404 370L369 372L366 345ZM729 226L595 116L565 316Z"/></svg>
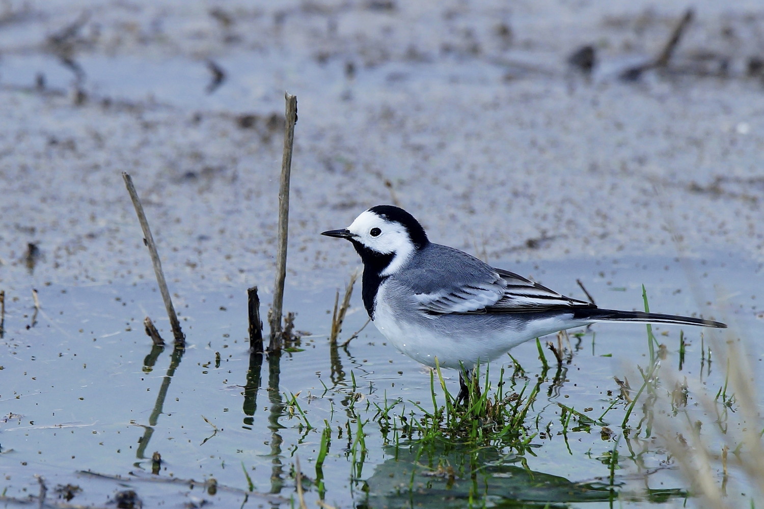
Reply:
<svg viewBox="0 0 764 509"><path fill-rule="evenodd" d="M244 290L257 285L270 303L285 91L299 113L285 309L313 334L284 354L279 378L248 353ZM56 507L69 495L76 507L129 507L126 487L144 507L287 507L299 457L316 481L311 507L409 507L401 486L427 462L490 463L480 479L491 503L545 507L555 485L559 504L612 507L626 493L624 507L701 507L666 449L620 431L613 375L637 379L644 327L585 331L553 379L536 345L513 351L529 375L507 391L540 387L533 419L548 435L533 439L536 453L420 456L410 424L410 441L392 447L373 405L400 404L413 422L414 403L442 394L372 327L329 349L335 288L359 262L319 232L394 203L435 242L571 297L585 298L581 278L597 304L637 308L645 283L652 311L730 320L735 338L757 340L762 153L759 1L0 2L0 501L37 504L47 483ZM142 330L163 306L121 172L183 317L182 365ZM359 294L343 339L364 323ZM686 346L682 375L725 388L730 433L746 427L701 331L656 330L669 354ZM571 415L561 403L577 419L613 409L616 434L581 426L560 438ZM395 412L390 433L406 429ZM358 453L348 437L364 420ZM333 445L319 475L322 437ZM147 473L154 450L160 476ZM545 488L504 484L528 472ZM461 478L438 491L431 474L417 474L435 483L417 504L465 507L478 493ZM175 482L191 478L221 488ZM756 489L730 478L730 494Z"/></svg>

